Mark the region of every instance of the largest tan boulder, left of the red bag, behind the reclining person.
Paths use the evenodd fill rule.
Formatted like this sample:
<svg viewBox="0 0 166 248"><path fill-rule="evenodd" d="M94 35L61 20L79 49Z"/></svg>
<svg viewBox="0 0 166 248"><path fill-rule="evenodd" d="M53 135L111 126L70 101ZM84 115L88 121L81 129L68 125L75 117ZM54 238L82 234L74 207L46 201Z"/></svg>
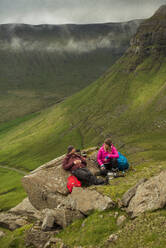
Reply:
<svg viewBox="0 0 166 248"><path fill-rule="evenodd" d="M62 168L63 159L64 156L54 159L23 177L22 183L29 201L36 209L57 208L69 194L66 186L70 172ZM98 171L90 157L87 158L87 167L93 173Z"/></svg>

